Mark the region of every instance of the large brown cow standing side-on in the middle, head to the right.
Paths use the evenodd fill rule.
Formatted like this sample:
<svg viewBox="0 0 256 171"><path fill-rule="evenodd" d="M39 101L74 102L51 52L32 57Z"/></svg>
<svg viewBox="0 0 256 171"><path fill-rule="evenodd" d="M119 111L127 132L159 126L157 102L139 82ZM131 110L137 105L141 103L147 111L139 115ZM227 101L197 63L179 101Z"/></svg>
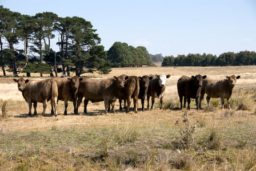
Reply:
<svg viewBox="0 0 256 171"><path fill-rule="evenodd" d="M114 76L108 79L90 79L84 78L81 80L78 87L78 99L75 113L78 113L78 107L81 104L83 97L85 97L83 112L87 113L87 104L90 101L98 102L104 101L105 114L110 111L110 104L112 105L113 112L114 102L117 100L117 96L121 89L125 86L125 80L129 76Z"/></svg>

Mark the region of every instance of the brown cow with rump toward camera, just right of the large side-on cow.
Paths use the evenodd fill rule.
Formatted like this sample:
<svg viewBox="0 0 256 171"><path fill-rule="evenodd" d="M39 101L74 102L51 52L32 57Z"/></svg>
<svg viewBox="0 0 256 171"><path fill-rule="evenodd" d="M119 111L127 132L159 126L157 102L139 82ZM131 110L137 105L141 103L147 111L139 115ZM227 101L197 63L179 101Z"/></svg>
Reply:
<svg viewBox="0 0 256 171"><path fill-rule="evenodd" d="M123 75L126 76L126 75ZM138 112L138 95L139 95L139 79L137 76L129 76L127 80L125 80L125 87L121 89L117 98L119 99L120 107L122 110L122 100L127 101L126 113L130 110L131 98L133 98L134 108L133 111L135 113Z"/></svg>

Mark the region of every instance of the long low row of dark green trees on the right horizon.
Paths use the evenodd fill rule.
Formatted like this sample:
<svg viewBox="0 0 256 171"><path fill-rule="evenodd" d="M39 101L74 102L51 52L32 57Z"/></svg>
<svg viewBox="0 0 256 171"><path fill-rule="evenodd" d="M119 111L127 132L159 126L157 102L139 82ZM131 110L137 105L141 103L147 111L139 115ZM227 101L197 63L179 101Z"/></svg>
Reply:
<svg viewBox="0 0 256 171"><path fill-rule="evenodd" d="M218 57L213 54L188 54L165 56L162 67L167 66L249 66L256 64L255 51L241 51L238 53L225 52Z"/></svg>

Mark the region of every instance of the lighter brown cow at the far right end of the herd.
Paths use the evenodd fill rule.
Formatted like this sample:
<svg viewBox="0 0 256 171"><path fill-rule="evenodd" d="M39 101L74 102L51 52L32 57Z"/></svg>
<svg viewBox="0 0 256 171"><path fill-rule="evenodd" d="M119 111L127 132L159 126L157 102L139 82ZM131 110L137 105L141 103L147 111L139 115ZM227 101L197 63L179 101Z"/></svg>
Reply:
<svg viewBox="0 0 256 171"><path fill-rule="evenodd" d="M206 100L209 105L211 98L221 98L221 109L224 105L224 99L227 99L227 107L230 109L230 97L233 92L233 88L237 83L237 79L240 76L226 76L226 79L217 80L214 78L206 78L203 80L203 86L201 87L201 95L199 99L199 108L201 108L201 102L205 93L207 94Z"/></svg>

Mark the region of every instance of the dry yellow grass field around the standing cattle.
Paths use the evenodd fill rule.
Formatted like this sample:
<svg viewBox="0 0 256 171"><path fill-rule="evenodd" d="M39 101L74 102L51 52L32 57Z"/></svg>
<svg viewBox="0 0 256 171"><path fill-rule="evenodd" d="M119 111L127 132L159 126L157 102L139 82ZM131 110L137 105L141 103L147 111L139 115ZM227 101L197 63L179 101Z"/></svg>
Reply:
<svg viewBox="0 0 256 171"><path fill-rule="evenodd" d="M142 67L87 74L83 76L170 74L165 109L159 109L159 99L153 111L145 112L139 101L138 113L119 111L116 103L117 113L105 115L102 102L89 102L88 113L82 112L82 103L74 115L69 103L65 116L59 101L57 117L50 114L50 102L44 117L28 116L17 83L0 78L0 170L256 170L255 71L256 66ZM210 107L204 99L200 111L194 99L190 111L178 109L177 80L197 74L241 76L230 110L221 109L220 99L211 99ZM33 76L41 80L49 75ZM37 111L42 113L42 104Z"/></svg>

